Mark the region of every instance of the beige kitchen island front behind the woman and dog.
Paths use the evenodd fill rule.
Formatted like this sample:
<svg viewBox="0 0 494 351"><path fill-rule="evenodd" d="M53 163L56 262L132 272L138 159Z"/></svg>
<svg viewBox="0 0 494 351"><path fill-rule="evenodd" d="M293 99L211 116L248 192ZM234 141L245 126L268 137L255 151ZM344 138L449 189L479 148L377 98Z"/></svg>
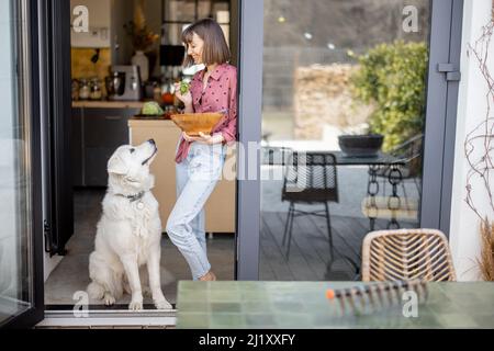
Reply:
<svg viewBox="0 0 494 351"><path fill-rule="evenodd" d="M153 138L158 147L158 154L150 170L155 176L153 194L158 200L161 225L165 227L177 200L175 155L181 132L169 120L131 118L128 128L132 145ZM228 179L226 177L221 179L206 202L206 233L235 233L236 155L231 147L225 161L226 168L234 171L234 174L228 173Z"/></svg>

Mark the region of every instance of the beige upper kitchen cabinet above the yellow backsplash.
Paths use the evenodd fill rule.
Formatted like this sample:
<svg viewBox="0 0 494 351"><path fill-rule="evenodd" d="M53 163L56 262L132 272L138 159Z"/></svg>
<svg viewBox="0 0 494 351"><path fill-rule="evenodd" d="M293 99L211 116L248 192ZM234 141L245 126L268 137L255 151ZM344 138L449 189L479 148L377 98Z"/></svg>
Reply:
<svg viewBox="0 0 494 351"><path fill-rule="evenodd" d="M77 11L86 7L87 13ZM112 0L70 0L71 46L72 47L110 47L112 37ZM77 33L75 23L87 21L88 32Z"/></svg>

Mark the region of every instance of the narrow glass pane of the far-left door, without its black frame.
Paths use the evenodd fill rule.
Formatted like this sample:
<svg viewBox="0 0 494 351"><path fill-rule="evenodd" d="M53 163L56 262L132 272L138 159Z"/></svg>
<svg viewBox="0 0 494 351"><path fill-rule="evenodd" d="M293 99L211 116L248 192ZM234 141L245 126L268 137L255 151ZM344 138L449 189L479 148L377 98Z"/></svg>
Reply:
<svg viewBox="0 0 494 351"><path fill-rule="evenodd" d="M14 0L0 4L0 325L30 309L33 302L31 125L25 113L30 106L24 105L25 66L18 61L25 57L21 7Z"/></svg>

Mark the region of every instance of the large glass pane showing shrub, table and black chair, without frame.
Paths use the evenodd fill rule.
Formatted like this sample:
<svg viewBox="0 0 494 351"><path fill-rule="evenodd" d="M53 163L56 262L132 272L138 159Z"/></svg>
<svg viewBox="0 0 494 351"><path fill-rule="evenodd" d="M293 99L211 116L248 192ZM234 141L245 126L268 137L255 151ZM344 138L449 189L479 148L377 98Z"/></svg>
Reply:
<svg viewBox="0 0 494 351"><path fill-rule="evenodd" d="M265 0L260 280L359 278L418 227L429 1Z"/></svg>

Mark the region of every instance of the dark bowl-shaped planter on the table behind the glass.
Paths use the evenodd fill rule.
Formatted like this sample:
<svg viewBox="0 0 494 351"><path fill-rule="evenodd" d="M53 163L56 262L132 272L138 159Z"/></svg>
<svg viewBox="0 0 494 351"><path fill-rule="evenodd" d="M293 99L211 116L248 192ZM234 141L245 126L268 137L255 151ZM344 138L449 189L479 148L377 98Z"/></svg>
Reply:
<svg viewBox="0 0 494 351"><path fill-rule="evenodd" d="M338 143L348 157L375 157L381 150L384 136L381 134L340 135Z"/></svg>

